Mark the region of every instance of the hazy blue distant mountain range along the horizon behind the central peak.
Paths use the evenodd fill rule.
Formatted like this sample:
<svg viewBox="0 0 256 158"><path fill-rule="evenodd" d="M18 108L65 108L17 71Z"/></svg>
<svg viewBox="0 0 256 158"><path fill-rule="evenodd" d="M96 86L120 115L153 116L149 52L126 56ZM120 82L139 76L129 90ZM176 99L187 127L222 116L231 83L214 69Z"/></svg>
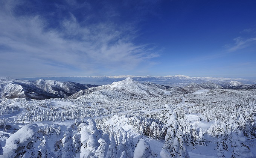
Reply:
<svg viewBox="0 0 256 158"><path fill-rule="evenodd" d="M125 78L130 77L135 81L141 83L152 82L155 84L162 84L166 86L187 86L190 83L215 83L223 87L229 86L231 81L236 81L242 84L256 84L256 80L248 80L243 78L222 78L222 77L189 77L185 75L174 75L174 76L89 76L89 77L43 77L47 80L56 81L72 81L82 84L96 84L105 85L111 84L113 82L125 80ZM38 80L40 78L23 78L24 80Z"/></svg>

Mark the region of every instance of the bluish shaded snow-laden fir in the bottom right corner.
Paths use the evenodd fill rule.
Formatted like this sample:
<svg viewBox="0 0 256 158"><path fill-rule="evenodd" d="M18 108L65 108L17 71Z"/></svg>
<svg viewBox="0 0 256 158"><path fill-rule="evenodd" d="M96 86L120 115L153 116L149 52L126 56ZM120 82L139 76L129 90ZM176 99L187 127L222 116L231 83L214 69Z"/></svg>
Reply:
<svg viewBox="0 0 256 158"><path fill-rule="evenodd" d="M251 152L244 133L238 130L237 134L232 133L232 155L230 158L256 158Z"/></svg>

